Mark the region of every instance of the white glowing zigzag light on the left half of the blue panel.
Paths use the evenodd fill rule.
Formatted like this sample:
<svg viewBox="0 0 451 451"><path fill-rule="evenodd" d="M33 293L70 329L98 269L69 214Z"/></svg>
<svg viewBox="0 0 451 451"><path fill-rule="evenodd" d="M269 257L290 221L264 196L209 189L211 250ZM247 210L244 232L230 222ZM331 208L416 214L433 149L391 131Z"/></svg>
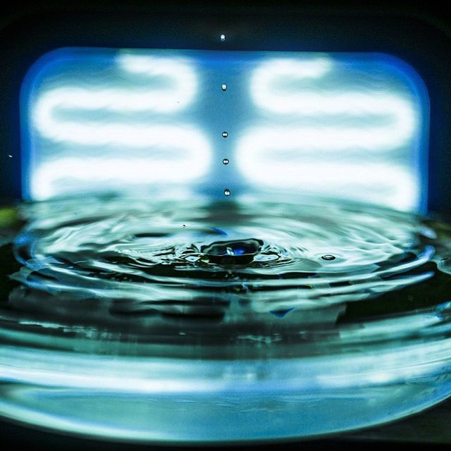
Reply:
<svg viewBox="0 0 451 451"><path fill-rule="evenodd" d="M62 144L55 154L35 159L30 176L33 199L186 183L208 170L211 148L205 135L174 116L197 94L192 63L125 51L115 61L121 71L132 75L130 87L113 82L107 87L65 85L42 92L32 106L32 124L39 134ZM158 116L154 121L111 116L147 112ZM142 156L132 149L142 149Z"/></svg>

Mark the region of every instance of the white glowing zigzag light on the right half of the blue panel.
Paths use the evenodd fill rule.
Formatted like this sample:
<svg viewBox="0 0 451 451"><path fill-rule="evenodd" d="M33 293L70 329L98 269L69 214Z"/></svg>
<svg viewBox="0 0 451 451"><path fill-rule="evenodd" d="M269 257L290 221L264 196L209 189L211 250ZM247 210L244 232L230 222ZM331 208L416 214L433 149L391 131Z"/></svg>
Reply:
<svg viewBox="0 0 451 451"><path fill-rule="evenodd" d="M250 95L265 116L240 137L240 171L259 187L416 207L418 173L409 152L419 123L412 100L340 80L325 89L321 78L333 69L333 60L321 56L271 59L254 70ZM280 121L285 125L273 125Z"/></svg>

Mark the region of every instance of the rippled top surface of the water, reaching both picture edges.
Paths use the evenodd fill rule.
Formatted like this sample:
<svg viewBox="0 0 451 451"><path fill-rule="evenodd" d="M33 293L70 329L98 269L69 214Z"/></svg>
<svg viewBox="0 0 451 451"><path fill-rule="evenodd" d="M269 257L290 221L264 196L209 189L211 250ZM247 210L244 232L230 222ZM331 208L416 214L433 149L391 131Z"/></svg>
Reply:
<svg viewBox="0 0 451 451"><path fill-rule="evenodd" d="M450 228L377 207L100 197L14 214L25 226L4 231L16 283L2 316L25 329L206 346L305 345L307 333L328 352L362 324L417 333L409 321L451 292Z"/></svg>

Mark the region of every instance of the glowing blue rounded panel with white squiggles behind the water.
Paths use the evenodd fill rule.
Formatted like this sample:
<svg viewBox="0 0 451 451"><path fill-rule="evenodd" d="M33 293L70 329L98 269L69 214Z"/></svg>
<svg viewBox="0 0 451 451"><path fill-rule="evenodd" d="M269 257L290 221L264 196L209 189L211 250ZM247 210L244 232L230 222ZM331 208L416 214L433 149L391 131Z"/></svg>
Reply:
<svg viewBox="0 0 451 451"><path fill-rule="evenodd" d="M22 106L28 199L228 187L426 206L426 88L384 54L59 49Z"/></svg>

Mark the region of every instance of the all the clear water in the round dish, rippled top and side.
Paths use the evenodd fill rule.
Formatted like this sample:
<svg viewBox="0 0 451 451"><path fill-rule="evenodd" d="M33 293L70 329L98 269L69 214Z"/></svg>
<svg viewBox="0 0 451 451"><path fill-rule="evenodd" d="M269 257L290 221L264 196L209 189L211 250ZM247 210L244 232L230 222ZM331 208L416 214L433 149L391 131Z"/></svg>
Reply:
<svg viewBox="0 0 451 451"><path fill-rule="evenodd" d="M116 388L123 390L126 378L144 363L127 360L125 364L118 358L145 358L146 364L166 359L168 368L170 362L184 359L186 371L194 364L192 371L200 371L199 362L204 362L199 377L209 378L214 368L221 387L230 381L227 389L218 392L225 393L227 400L246 390L254 393L258 385L264 390L263 398L252 397L250 404L266 399L266 390L268 399L277 404L277 412L291 412L295 421L297 407L288 407L285 395L279 398L273 390L288 390L288 394L292 390L299 400L309 397L308 402L299 401L300 411L314 403L309 407L308 431L296 433L298 426L293 422L295 429L273 431L271 437L374 424L390 415L416 412L451 393L447 382L451 355L446 354L449 345L443 341L450 332L451 311L451 228L445 223L320 199L301 204L233 197L192 202L101 197L5 208L0 211L0 226L0 330L4 344L15 346L11 349L17 354L11 351L6 363L0 359L5 368L11 368L11 362L18 366L30 362L30 355L39 354L37 349L63 352L56 359L59 366L47 364L47 356L39 363L39 371L70 367L70 374L78 365L92 365L93 356L111 356L111 373L119 378L126 368ZM33 354L20 354L30 349ZM78 364L61 364L61 359L75 358ZM125 367L118 369L119 363ZM295 372L282 371L297 363L302 366L290 370ZM103 386L103 365L106 363L100 369L89 366L93 372L87 384L95 385L98 380ZM218 365L223 365L221 370ZM270 371L273 365L277 371ZM30 384L35 376L30 376L27 368L24 366L21 374ZM68 373L61 371L58 378L62 381ZM182 373L172 371L165 377L185 383L185 370L178 371ZM302 371L309 376L302 376ZM302 383L283 382L296 374ZM149 381L153 375L146 372L142 377ZM56 376L52 377L55 381ZM412 377L423 385L407 383ZM281 385L261 388L259 384L268 383L266 378L275 378ZM326 379L324 385L321 381ZM209 392L210 383L208 379L204 385L195 385L196 390L202 386L202 393ZM344 386L350 390L346 396L352 406L355 404L346 407L345 419L338 415L345 408L340 397L330 401L330 393L344 390ZM130 387L137 390L136 385ZM371 410L376 409L371 401L371 409L367 407L373 414L362 419L356 414L362 412L359 400L373 400L375 387L391 391L381 392L386 394L378 401L378 413ZM58 390L52 392L52 400L55 394L61 396L61 387ZM159 390L159 396L166 393ZM314 401L311 393L316 393ZM96 402L94 395L89 396L90 402ZM104 415L109 417L114 411L108 401L111 394L101 396ZM228 402L208 399L202 398L204 409L219 409L221 402ZM197 397L189 400L200 402ZM157 404L161 407L163 401ZM235 401L241 409L242 398ZM64 414L68 418L80 410L79 404L67 399L54 404L39 402L40 407L33 404L34 408L47 406L58 416L67 409ZM399 412L390 404L393 402ZM86 398L80 403L86 405ZM133 403L130 400L128 407L121 407L121 415L115 411L118 423L114 427L123 428L127 423ZM338 414L329 424L320 425L314 421L316 406L322 406L321 412L336 409ZM164 403L161 408L175 409ZM253 412L249 409L243 412ZM80 412L85 412L83 407ZM224 412L228 410L216 414L222 417ZM91 415L82 418L85 424L94 425L92 429L86 426L87 432L100 433ZM108 422L105 417L101 421ZM180 421L186 424L186 416ZM192 429L174 433L183 440L221 439L211 435L219 426L208 421L202 429L204 435L194 436ZM247 438L240 430L240 415L235 426L230 418L224 417L223 422L229 429L222 439ZM258 421L252 419L251 423L259 427ZM250 436L268 438L264 432L252 432L254 426L244 426ZM172 427L176 430L178 426ZM130 430L121 437L132 435Z"/></svg>

